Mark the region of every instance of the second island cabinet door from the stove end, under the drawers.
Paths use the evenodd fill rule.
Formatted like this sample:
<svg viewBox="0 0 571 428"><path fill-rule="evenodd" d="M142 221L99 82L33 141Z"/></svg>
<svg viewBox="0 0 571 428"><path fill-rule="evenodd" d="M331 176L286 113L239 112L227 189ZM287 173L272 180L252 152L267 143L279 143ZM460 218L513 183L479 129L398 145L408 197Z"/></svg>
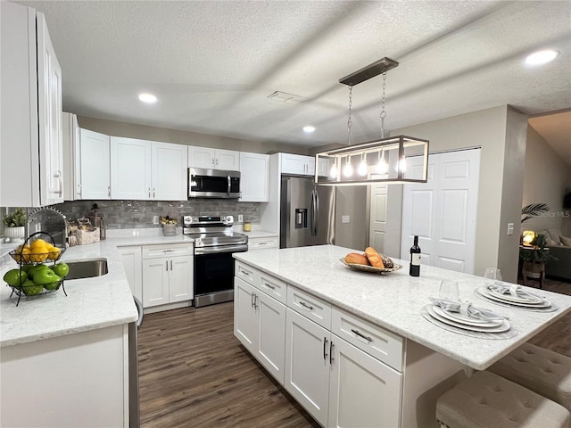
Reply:
<svg viewBox="0 0 571 428"><path fill-rule="evenodd" d="M254 292L258 311L257 358L280 384L284 384L285 305L263 292Z"/></svg>

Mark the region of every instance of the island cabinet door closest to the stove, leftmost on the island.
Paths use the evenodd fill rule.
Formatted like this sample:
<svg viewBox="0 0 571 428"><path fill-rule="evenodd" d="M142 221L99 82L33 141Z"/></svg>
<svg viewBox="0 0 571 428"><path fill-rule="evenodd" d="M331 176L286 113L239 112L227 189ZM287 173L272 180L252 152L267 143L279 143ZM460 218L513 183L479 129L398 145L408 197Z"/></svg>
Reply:
<svg viewBox="0 0 571 428"><path fill-rule="evenodd" d="M254 288L234 277L234 335L252 355L258 341L258 315L253 307Z"/></svg>

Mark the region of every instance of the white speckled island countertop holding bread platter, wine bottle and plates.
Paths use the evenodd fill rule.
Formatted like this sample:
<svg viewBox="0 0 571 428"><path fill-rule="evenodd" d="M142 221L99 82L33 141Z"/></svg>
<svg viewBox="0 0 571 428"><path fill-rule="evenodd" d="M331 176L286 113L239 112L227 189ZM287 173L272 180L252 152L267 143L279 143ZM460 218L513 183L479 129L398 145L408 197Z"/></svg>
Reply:
<svg viewBox="0 0 571 428"><path fill-rule="evenodd" d="M394 261L403 268L395 272L378 275L356 271L339 261L352 251L355 250L319 245L238 252L234 257L476 370L491 366L571 310L571 296L537 289L533 291L548 298L559 310L534 312L493 305L474 294L476 288L484 285L483 277L421 266L420 276L415 278L409 276L409 262L400 259ZM517 335L510 339L481 339L452 333L427 321L420 311L430 303L429 297L438 296L440 281L445 278L458 281L462 300L509 317Z"/></svg>

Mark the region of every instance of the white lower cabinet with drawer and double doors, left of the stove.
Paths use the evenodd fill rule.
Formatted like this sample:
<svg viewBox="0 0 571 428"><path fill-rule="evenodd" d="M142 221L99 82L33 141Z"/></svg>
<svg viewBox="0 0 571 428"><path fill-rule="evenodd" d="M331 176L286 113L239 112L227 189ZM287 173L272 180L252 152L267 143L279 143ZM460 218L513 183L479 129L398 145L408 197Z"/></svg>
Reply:
<svg viewBox="0 0 571 428"><path fill-rule="evenodd" d="M145 308L194 298L192 245L143 247L143 306Z"/></svg>

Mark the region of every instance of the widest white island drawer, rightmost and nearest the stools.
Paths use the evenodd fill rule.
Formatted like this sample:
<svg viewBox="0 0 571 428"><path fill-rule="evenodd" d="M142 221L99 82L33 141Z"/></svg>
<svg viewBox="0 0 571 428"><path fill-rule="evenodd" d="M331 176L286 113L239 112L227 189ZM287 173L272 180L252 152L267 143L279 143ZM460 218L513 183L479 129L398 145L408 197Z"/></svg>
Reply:
<svg viewBox="0 0 571 428"><path fill-rule="evenodd" d="M403 339L398 334L335 308L331 313L331 333L402 371Z"/></svg>

